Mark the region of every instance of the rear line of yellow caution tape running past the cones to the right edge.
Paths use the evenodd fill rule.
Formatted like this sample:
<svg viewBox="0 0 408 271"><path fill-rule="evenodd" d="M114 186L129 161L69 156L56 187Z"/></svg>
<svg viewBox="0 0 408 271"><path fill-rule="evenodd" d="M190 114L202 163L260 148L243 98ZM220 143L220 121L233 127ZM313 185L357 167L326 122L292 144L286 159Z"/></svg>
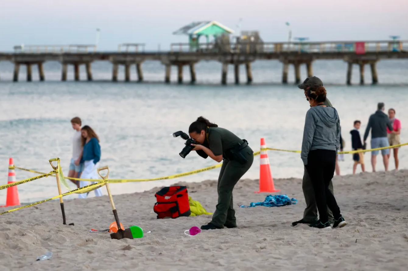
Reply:
<svg viewBox="0 0 408 271"><path fill-rule="evenodd" d="M343 151L343 152L338 152L339 154L353 154L353 153L359 153L359 152L372 152L374 150L384 150L384 149L390 149L390 148L399 148L401 146L406 146L408 145L408 143L404 143L404 144L399 144L399 145L393 145L393 146L388 146L388 147L382 147L382 148L375 148L375 149L369 149L369 150L351 150L351 151ZM262 148L261 151L264 150L274 150L274 151L281 151L281 152L295 152L295 153L300 153L300 150L283 150L283 149L275 149L275 148ZM258 152L254 152L254 156L257 156L260 154L260 151ZM58 161L58 160L53 160L53 161ZM175 175L170 175L170 176L166 176L166 177L159 177L159 178L153 178L153 179L108 179L107 181L109 181L109 183L127 183L127 182L136 182L136 181L159 181L159 180L167 180L167 179L176 179L176 178L180 178L180 177L184 177L184 176L188 176L188 175L193 175L193 174L197 174L200 172L204 172L207 170L212 170L215 168L220 168L222 166L221 164L217 164L214 166L209 166L206 168L202 168L202 169L197 169L197 170L193 170L193 171L189 171L189 172L185 172L185 173L180 173L180 174L175 174ZM17 167L15 167L17 168ZM21 168L18 168L21 169ZM30 171L27 169L23 169L26 171ZM42 173L42 172L37 172L37 173ZM64 177L65 179L71 179L71 180L77 180L77 181L95 181L95 179L80 179L80 178L71 178L71 177Z"/></svg>

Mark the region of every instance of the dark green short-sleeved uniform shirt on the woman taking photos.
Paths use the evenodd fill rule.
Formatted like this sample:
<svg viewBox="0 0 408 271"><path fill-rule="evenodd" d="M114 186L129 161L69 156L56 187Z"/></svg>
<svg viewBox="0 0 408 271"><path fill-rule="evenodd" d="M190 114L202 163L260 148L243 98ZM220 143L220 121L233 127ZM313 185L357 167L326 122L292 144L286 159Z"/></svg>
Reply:
<svg viewBox="0 0 408 271"><path fill-rule="evenodd" d="M203 145L209 148L215 156L222 155L226 150L235 145L244 143L244 141L235 134L220 127L210 127L208 141L209 142L207 142L206 139ZM197 150L197 154L203 158L208 157L203 150Z"/></svg>

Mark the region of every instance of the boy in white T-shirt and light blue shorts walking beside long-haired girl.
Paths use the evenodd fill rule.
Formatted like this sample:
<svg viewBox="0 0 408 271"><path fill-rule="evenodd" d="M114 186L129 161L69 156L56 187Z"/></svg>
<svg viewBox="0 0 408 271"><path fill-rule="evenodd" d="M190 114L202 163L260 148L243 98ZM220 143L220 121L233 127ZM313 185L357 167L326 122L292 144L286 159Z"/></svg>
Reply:
<svg viewBox="0 0 408 271"><path fill-rule="evenodd" d="M71 119L72 128L75 130L72 137L72 158L71 163L69 163L69 173L68 177L78 178L83 164L80 163L82 157L82 143L81 143L81 125L82 121L79 117ZM78 181L72 181L78 188Z"/></svg>

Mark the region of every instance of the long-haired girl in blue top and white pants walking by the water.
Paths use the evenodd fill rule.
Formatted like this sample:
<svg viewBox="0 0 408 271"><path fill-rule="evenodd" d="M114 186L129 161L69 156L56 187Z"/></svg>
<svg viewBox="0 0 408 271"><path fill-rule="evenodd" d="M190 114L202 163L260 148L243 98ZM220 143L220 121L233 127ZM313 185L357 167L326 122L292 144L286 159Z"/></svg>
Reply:
<svg viewBox="0 0 408 271"><path fill-rule="evenodd" d="M85 125L81 129L82 133L82 158L81 162L84 163L84 171L82 172L81 179L99 179L97 168L99 166L99 160L101 158L101 147L99 145L98 135L92 130L91 127ZM80 187L88 185L88 181L80 181ZM95 184L95 182L92 182ZM95 189L95 196L102 196L102 189ZM86 198L88 194L79 194L80 199Z"/></svg>

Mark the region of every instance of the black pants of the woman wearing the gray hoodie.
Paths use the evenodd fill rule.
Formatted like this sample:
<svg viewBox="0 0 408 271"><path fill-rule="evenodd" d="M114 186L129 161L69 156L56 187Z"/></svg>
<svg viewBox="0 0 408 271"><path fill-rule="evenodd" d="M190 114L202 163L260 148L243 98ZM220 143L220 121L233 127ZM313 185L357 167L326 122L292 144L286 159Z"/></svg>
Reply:
<svg viewBox="0 0 408 271"><path fill-rule="evenodd" d="M315 191L317 211L320 221L328 222L327 207L333 212L334 219L341 216L340 208L333 194L329 190L329 184L333 179L336 168L335 150L311 150L307 157L306 170Z"/></svg>

